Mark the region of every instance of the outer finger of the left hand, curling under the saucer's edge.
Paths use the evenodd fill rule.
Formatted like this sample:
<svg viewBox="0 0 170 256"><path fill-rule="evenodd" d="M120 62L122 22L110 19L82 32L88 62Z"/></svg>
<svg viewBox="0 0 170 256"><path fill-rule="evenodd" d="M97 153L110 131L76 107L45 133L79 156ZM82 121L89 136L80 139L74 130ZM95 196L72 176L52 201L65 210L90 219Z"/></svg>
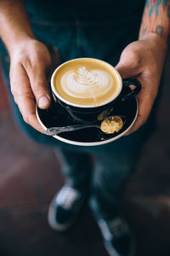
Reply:
<svg viewBox="0 0 170 256"><path fill-rule="evenodd" d="M36 103L31 91L29 79L24 68L20 65L11 65L10 68L11 91L14 95L14 101L17 103L23 119L28 125L34 127L37 131L44 133L36 117Z"/></svg>

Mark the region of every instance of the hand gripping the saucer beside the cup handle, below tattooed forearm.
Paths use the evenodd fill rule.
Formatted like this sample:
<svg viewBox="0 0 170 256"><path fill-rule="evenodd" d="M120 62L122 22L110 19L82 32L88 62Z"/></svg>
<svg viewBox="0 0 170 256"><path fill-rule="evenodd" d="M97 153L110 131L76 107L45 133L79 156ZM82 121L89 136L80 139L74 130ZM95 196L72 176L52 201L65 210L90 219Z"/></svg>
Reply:
<svg viewBox="0 0 170 256"><path fill-rule="evenodd" d="M139 92L139 114L133 127L126 133L131 134L144 125L150 115L156 99L167 43L154 33L150 33L139 41L128 44L122 51L120 61L116 65L122 79L139 79L142 89Z"/></svg>

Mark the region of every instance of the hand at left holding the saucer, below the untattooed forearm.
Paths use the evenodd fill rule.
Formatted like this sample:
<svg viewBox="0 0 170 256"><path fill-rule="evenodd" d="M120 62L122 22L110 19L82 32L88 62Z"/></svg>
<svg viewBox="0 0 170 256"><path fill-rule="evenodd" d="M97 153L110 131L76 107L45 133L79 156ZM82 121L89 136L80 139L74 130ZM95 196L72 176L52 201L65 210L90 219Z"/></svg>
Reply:
<svg viewBox="0 0 170 256"><path fill-rule="evenodd" d="M44 133L36 117L39 108L48 108L47 74L51 65L48 48L35 39L24 40L10 51L10 84L14 101L28 125Z"/></svg>

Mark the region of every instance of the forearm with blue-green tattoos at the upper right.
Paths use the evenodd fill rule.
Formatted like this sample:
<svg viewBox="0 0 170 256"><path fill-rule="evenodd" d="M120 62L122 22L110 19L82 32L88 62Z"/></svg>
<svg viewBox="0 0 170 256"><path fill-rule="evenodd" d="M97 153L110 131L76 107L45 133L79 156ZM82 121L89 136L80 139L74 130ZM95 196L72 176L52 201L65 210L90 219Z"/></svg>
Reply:
<svg viewBox="0 0 170 256"><path fill-rule="evenodd" d="M170 27L170 0L146 0L139 38L154 32L167 39Z"/></svg>

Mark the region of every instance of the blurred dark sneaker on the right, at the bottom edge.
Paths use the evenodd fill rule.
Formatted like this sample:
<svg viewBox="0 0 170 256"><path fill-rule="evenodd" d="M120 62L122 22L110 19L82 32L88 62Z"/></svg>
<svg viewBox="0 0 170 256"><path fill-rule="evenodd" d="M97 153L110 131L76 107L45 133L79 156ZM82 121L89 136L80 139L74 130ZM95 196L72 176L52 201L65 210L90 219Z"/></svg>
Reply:
<svg viewBox="0 0 170 256"><path fill-rule="evenodd" d="M134 256L134 241L124 218L112 221L99 219L99 228L104 238L105 249L111 256Z"/></svg>

